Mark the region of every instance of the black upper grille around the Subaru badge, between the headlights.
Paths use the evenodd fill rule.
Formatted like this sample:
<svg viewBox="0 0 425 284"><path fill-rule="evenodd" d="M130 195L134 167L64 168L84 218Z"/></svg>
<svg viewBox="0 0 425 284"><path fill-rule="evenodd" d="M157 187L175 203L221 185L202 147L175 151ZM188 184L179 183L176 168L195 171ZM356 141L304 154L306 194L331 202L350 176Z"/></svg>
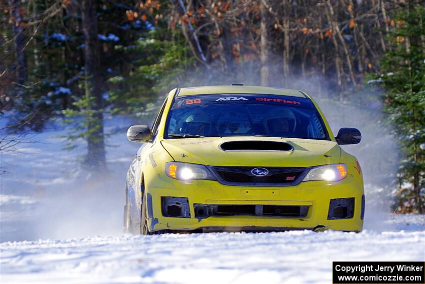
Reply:
<svg viewBox="0 0 425 284"><path fill-rule="evenodd" d="M268 174L255 176L255 167L210 167L218 181L227 185L289 186L298 184L305 176L306 168L268 167Z"/></svg>

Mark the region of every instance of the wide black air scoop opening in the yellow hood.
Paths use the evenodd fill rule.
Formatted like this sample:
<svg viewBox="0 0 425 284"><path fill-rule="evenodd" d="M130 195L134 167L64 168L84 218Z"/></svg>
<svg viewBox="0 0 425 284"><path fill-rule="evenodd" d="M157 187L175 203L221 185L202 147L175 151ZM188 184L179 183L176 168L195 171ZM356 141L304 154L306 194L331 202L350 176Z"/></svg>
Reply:
<svg viewBox="0 0 425 284"><path fill-rule="evenodd" d="M231 152L290 152L292 145L275 141L229 141L218 146L223 151Z"/></svg>

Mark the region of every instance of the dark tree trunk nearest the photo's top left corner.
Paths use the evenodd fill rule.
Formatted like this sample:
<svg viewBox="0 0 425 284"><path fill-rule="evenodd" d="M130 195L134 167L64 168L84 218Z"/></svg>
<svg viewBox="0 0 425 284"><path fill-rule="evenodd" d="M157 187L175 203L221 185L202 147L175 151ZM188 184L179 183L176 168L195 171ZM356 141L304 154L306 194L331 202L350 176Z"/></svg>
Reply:
<svg viewBox="0 0 425 284"><path fill-rule="evenodd" d="M24 85L27 80L25 38L23 35L22 15L20 14L20 0L9 0L11 15L14 22L11 23L13 30L14 52L16 56L17 83Z"/></svg>

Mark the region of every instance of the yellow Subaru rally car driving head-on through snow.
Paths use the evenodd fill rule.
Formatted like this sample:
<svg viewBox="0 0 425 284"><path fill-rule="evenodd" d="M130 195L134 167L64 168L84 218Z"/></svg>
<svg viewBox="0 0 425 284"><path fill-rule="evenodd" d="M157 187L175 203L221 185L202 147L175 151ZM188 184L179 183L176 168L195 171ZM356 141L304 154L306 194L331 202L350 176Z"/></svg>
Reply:
<svg viewBox="0 0 425 284"><path fill-rule="evenodd" d="M299 90L209 86L172 90L127 173L124 229L361 231L363 178L317 104ZM338 145L339 144L339 145Z"/></svg>

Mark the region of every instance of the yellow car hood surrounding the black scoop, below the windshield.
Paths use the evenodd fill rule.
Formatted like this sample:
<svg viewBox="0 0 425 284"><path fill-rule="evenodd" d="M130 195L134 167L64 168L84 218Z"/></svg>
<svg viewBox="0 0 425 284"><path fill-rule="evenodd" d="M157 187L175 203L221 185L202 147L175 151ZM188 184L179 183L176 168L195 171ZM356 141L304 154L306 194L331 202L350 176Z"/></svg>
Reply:
<svg viewBox="0 0 425 284"><path fill-rule="evenodd" d="M246 141L283 142L290 150L223 150L225 142L234 146ZM267 166L307 167L338 163L341 155L339 145L334 141L277 138L277 137L208 137L164 139L162 146L177 162L210 166ZM225 148L225 147L223 147ZM237 147L236 147L237 148Z"/></svg>

